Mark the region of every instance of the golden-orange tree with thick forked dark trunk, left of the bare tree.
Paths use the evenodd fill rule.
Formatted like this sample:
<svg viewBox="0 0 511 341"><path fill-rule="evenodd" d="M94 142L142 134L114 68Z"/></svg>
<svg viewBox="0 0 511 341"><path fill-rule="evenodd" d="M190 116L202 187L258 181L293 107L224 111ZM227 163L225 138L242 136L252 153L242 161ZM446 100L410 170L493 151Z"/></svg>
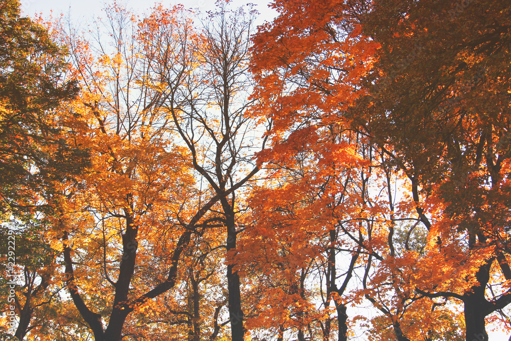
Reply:
<svg viewBox="0 0 511 341"><path fill-rule="evenodd" d="M76 114L68 139L89 149L91 165L80 186L59 186L65 200L53 238L62 241L65 285L82 319L96 340L117 340L130 313L176 285L181 255L219 198L197 202L187 152L174 143L166 99L151 81L157 60L146 39L164 29L181 48L165 62L192 67L187 48L199 39L191 21L180 8L157 7L146 20L119 5L105 13L96 35L62 35L82 86L68 108Z"/></svg>

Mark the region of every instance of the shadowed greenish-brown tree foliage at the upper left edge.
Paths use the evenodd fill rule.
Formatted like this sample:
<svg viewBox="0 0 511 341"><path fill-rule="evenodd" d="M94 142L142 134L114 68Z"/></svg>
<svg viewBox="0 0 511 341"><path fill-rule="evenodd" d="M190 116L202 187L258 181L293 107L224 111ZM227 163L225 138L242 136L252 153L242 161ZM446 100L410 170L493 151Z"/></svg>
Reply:
<svg viewBox="0 0 511 341"><path fill-rule="evenodd" d="M76 172L80 165L70 159L81 155L63 144L52 115L78 90L64 79L65 50L41 25L19 16L17 1L2 2L0 15L0 196L8 217L48 199L42 192L50 191L50 181ZM46 197L34 198L34 191Z"/></svg>

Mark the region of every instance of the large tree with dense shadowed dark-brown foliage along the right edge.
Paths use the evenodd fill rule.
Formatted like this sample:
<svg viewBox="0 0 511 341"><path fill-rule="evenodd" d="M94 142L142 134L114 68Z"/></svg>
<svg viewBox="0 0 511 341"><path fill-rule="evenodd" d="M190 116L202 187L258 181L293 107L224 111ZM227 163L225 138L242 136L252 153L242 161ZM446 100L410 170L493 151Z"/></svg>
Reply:
<svg viewBox="0 0 511 341"><path fill-rule="evenodd" d="M365 23L381 48L364 127L408 177L429 230L416 290L461 301L467 340L487 340L485 317L511 302L497 279L511 279L508 12L507 2L376 2ZM435 263L446 270L427 278ZM487 288L499 293L489 300Z"/></svg>

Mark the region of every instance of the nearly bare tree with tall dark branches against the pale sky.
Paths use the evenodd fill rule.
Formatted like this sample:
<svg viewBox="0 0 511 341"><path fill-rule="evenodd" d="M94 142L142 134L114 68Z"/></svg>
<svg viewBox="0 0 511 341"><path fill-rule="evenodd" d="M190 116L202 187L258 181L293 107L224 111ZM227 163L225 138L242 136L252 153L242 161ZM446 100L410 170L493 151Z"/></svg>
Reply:
<svg viewBox="0 0 511 341"><path fill-rule="evenodd" d="M238 222L243 210L239 189L258 173L253 156L264 148L266 138L265 127L246 115L252 103L248 99L248 37L253 13L228 11L221 6L207 18L211 23L202 30L202 46L192 52L188 64L165 62L176 51L171 32L155 31L159 35L149 42L150 52L158 61L152 65L151 79L165 98L162 106L188 148L198 181L218 197L219 216L211 223L225 227L225 248L231 256L243 230ZM180 39L178 51L188 51L187 37ZM232 338L242 340L245 328L240 278L231 262L227 262L226 277Z"/></svg>

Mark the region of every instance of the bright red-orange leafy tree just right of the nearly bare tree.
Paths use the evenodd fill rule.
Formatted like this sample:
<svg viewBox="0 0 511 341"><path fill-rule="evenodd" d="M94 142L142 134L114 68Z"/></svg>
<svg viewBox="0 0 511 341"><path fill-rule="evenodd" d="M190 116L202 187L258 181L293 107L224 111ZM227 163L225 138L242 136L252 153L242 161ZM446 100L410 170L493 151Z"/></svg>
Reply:
<svg viewBox="0 0 511 341"><path fill-rule="evenodd" d="M328 275L322 283L327 291L324 309L335 306L337 337L346 339L349 300L341 296L348 294L347 283L360 265L360 252L372 252L365 245L366 236L360 235L370 231L360 224L370 224L372 213L367 197L371 165L364 160L370 147L364 135L357 137L351 130L343 112L364 94L360 82L376 46L361 35L357 16L365 9L363 3L276 1L273 6L280 15L254 38L252 68L262 98L254 112L274 120L273 148L262 160L296 178L282 181L282 193L270 194L289 201L260 211L275 210L273 218L281 215L284 225L296 218L292 231L310 229L305 240L309 238L307 243L319 252L309 257L324 264L323 278ZM303 157L305 164L293 164ZM296 208L288 212L286 208L293 205ZM300 243L296 247L294 253L300 254ZM350 264L342 280L337 275L338 250L346 251ZM323 322L322 337L328 339L330 322Z"/></svg>

